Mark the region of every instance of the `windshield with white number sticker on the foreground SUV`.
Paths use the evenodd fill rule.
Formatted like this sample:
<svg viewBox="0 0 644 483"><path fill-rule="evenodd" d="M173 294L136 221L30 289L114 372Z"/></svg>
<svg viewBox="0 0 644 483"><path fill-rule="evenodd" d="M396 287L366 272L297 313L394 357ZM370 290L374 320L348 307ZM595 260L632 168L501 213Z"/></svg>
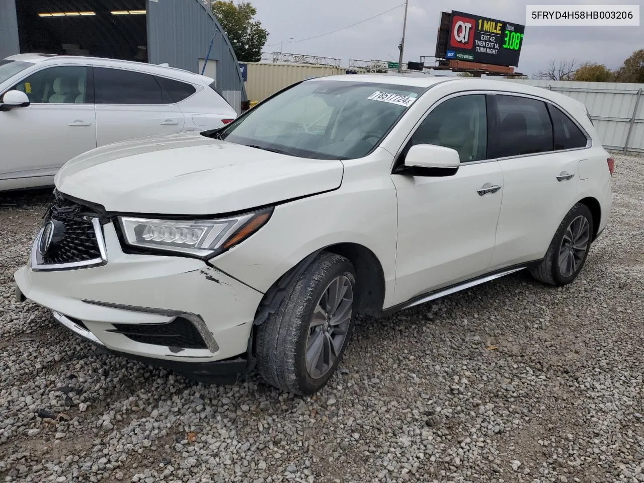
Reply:
<svg viewBox="0 0 644 483"><path fill-rule="evenodd" d="M252 108L218 138L303 158L366 156L426 88L306 81Z"/></svg>

